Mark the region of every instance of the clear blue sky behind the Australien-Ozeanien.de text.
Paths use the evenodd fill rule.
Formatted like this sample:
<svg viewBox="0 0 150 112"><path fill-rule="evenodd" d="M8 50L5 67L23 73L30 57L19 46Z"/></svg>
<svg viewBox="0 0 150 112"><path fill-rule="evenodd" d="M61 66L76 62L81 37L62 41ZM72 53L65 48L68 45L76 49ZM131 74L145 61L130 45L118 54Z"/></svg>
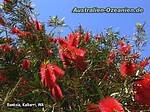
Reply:
<svg viewBox="0 0 150 112"><path fill-rule="evenodd" d="M33 4L40 13L38 19L47 22L49 16L65 17L65 22L72 29L79 24L93 33L104 31L104 28L112 26L114 30L120 31L121 35L133 37L135 24L146 22L148 45L144 56L150 56L150 1L149 0L33 0ZM144 8L143 13L72 13L74 7L129 7ZM65 34L70 30L64 29Z"/></svg>

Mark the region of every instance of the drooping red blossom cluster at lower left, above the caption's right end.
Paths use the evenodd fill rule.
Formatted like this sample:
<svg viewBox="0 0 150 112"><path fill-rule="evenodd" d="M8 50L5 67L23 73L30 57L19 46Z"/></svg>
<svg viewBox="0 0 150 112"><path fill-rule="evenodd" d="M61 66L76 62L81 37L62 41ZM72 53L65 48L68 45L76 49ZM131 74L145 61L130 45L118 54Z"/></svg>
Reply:
<svg viewBox="0 0 150 112"><path fill-rule="evenodd" d="M56 83L56 78L61 79L64 76L64 71L54 64L42 64L41 65L41 81L42 84L52 90L52 95L56 100L63 98L62 91L59 85Z"/></svg>

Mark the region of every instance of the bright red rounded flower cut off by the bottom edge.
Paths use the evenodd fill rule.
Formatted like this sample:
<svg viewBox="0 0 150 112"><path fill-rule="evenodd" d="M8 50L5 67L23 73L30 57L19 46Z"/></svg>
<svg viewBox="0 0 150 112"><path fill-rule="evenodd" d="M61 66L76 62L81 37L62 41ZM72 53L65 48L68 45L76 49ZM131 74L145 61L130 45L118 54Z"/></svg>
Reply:
<svg viewBox="0 0 150 112"><path fill-rule="evenodd" d="M99 102L99 108L96 112L124 112L122 105L112 97L106 97Z"/></svg>

